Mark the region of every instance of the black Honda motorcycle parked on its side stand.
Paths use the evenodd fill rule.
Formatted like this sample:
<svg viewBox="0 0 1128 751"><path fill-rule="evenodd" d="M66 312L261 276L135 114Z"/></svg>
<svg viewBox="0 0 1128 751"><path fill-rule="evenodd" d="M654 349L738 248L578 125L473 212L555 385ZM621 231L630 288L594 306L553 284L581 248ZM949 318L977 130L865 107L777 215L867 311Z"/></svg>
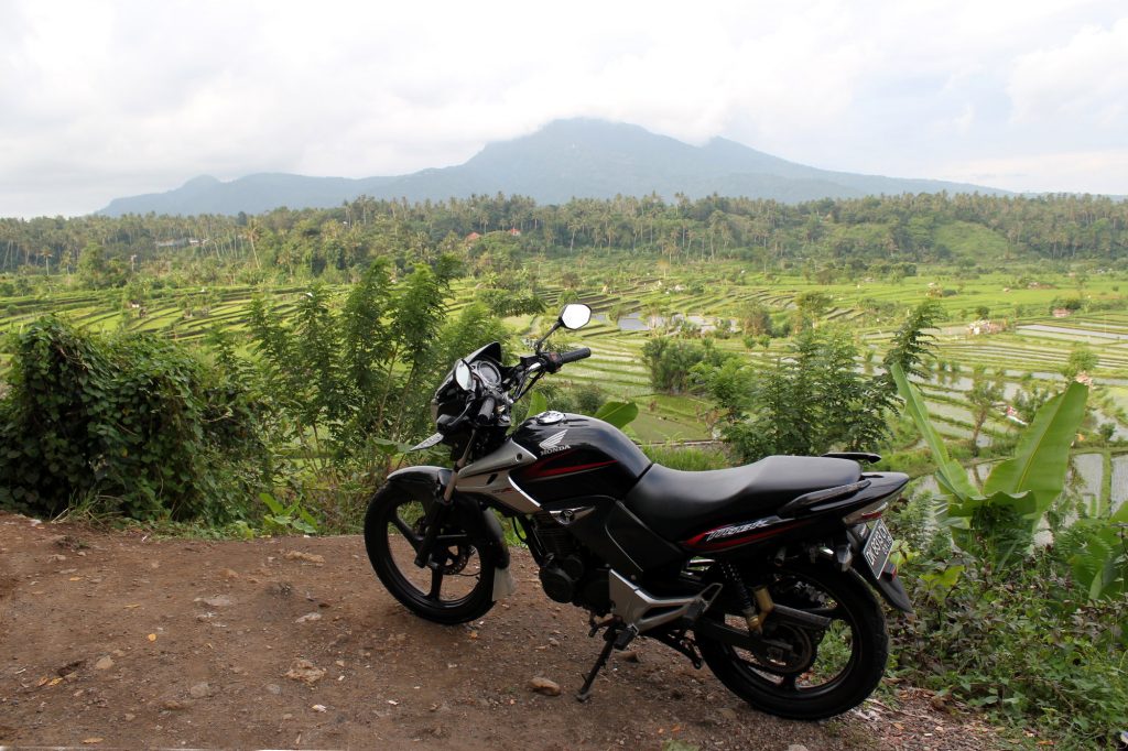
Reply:
<svg viewBox="0 0 1128 751"><path fill-rule="evenodd" d="M438 433L415 447L450 447L453 469L400 469L369 504L380 581L429 620L479 618L513 591L505 518L545 593L589 610L591 636L603 631L580 699L613 650L646 636L763 712L818 719L858 705L889 652L872 590L911 611L880 519L908 477L863 471L879 459L867 453L679 471L611 425L559 412L510 432L537 380L591 355L545 352L545 339L590 316L565 306L514 365L496 342L455 363L432 401Z"/></svg>

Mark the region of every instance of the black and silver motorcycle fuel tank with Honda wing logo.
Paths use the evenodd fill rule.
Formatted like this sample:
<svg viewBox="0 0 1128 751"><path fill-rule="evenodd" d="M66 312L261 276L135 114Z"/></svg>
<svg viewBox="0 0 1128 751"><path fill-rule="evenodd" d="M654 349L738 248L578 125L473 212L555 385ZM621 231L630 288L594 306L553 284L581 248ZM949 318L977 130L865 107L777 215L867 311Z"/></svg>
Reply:
<svg viewBox="0 0 1128 751"><path fill-rule="evenodd" d="M536 457L513 470L512 479L540 504L623 498L651 465L618 428L585 415L545 412L521 423L511 438Z"/></svg>

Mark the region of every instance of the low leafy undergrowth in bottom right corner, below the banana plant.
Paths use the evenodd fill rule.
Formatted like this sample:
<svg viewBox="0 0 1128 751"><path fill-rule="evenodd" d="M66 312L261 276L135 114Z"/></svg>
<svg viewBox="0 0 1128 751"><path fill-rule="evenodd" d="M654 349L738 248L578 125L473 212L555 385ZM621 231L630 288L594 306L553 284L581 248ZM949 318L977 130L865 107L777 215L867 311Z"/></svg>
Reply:
<svg viewBox="0 0 1128 751"><path fill-rule="evenodd" d="M1072 599L1051 555L999 581L968 558L902 565L916 618L891 621L898 672L1020 725L1081 742L1128 725L1128 598ZM1077 746L1073 746L1077 748Z"/></svg>

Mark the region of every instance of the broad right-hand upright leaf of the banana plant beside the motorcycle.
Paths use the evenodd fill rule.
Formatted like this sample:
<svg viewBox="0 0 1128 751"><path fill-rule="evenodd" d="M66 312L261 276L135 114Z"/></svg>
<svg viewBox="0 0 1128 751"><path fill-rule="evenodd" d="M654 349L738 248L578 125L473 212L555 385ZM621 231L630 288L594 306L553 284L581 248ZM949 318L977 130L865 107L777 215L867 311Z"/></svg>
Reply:
<svg viewBox="0 0 1128 751"><path fill-rule="evenodd" d="M984 495L1029 492L1036 500L1028 515L1037 521L1061 495L1069 447L1085 416L1089 388L1073 382L1047 401L1022 432L1014 457L999 462L984 483Z"/></svg>

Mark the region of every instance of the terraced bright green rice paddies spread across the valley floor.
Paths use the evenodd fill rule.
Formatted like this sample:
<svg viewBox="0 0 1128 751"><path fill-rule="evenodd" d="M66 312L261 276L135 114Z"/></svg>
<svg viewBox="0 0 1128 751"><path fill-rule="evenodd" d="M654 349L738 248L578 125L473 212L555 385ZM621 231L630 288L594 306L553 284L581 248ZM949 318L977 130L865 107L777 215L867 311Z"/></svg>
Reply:
<svg viewBox="0 0 1128 751"><path fill-rule="evenodd" d="M1128 438L1128 310L1078 312L1055 318L1051 303L1063 298L1079 298L1087 307L1121 307L1119 275L1096 274L1078 285L1067 275L1040 277L1021 286L1013 276L996 274L975 280L958 280L943 270L907 277L900 282L854 281L817 284L801 276L765 277L737 263L695 266L655 273L652 265L635 264L583 270L591 281L579 290L565 291L552 280L563 275L563 265L546 264L539 272L538 294L548 310L555 310L563 295L589 303L594 317L591 325L567 336L576 346L592 348L591 359L567 369L561 378L575 383L593 383L609 396L638 403L641 413L634 425L645 443L695 442L712 438L707 427L711 405L691 396L656 395L650 387L641 357L646 339L685 321L708 332L715 326L735 327L742 308L758 302L772 310L795 307L803 292L829 295L830 306L822 319L851 327L857 336L865 361L880 362L899 323L897 309L915 306L927 297L936 299L946 320L934 333L937 359L943 369L922 385L942 434L968 439L972 415L967 405L970 374L976 365L998 372L1005 380L1005 395L1012 399L1023 379L1060 382L1074 345L1083 344L1098 356L1091 373L1096 386L1094 403L1099 419L1117 424L1118 438ZM927 270L925 270L927 271ZM264 290L283 313L303 288L299 285ZM1126 288L1128 289L1128 288ZM343 291L343 288L342 288ZM455 290L451 310L457 311L474 295L475 282L464 280ZM51 295L0 299L0 333L18 330L36 317L58 313L97 330L146 330L183 341L201 338L213 327L239 332L246 326L248 306L256 290L249 286L159 290L143 303L131 308L120 290L56 292ZM988 309L992 321L1005 330L975 335L969 324ZM530 338L547 328L552 313L515 317L508 320L513 330ZM719 347L739 353L751 362L764 362L786 352L785 339L773 339L767 348L749 350L739 332L717 338ZM10 352L0 347L0 371ZM985 426L982 441L1013 430L1001 405L998 414ZM1117 465L1119 466L1119 465ZM1089 471L1089 470L1086 470ZM1105 468L1111 485L1128 483L1128 469ZM1123 477L1121 477L1123 475ZM1119 478L1119 479L1118 479ZM1109 483L1101 481L1103 485ZM1119 487L1119 486L1117 486Z"/></svg>

